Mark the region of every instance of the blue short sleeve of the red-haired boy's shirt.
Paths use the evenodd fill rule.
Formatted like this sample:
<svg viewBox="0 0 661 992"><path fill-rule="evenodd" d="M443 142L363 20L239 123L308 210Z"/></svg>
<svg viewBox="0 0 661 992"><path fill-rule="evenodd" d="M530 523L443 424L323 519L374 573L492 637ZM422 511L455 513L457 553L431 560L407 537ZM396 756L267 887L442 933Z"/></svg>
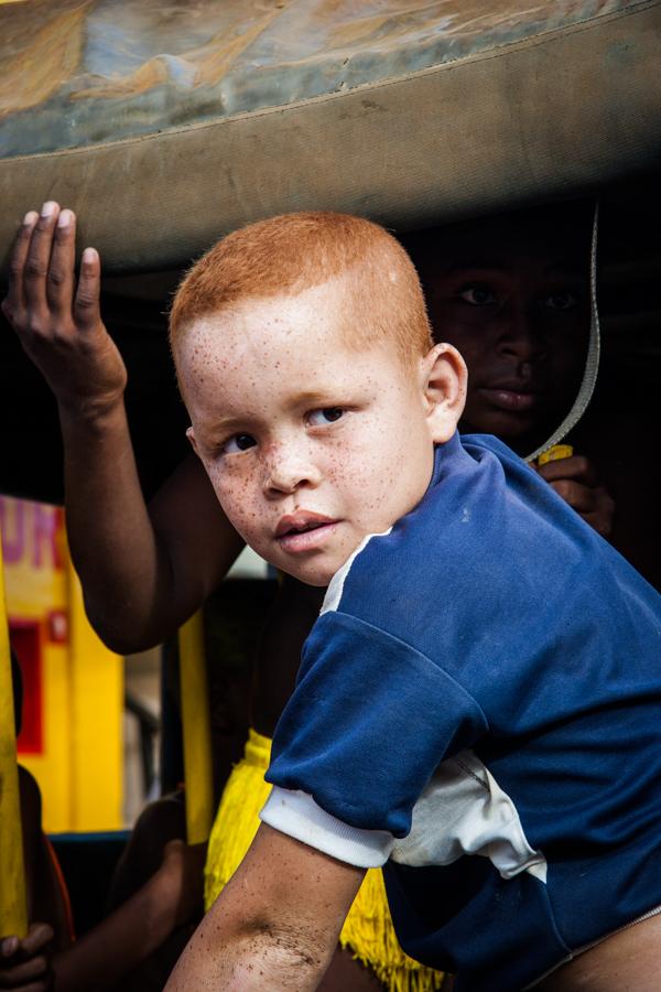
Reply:
<svg viewBox="0 0 661 992"><path fill-rule="evenodd" d="M305 644L267 779L311 797L317 820L321 810L360 832L404 837L438 763L486 730L481 709L438 665L364 621L329 612ZM305 816L305 802L285 806L279 822L271 804L268 822L314 837L294 824L292 808Z"/></svg>

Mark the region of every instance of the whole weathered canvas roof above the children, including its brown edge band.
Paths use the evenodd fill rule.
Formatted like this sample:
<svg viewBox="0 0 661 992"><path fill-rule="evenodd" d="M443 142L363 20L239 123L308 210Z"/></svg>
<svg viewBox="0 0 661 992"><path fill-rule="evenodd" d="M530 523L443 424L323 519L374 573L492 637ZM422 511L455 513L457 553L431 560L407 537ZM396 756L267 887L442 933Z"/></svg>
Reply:
<svg viewBox="0 0 661 992"><path fill-rule="evenodd" d="M0 6L0 246L51 196L138 271L282 211L579 192L659 162L660 43L659 0Z"/></svg>

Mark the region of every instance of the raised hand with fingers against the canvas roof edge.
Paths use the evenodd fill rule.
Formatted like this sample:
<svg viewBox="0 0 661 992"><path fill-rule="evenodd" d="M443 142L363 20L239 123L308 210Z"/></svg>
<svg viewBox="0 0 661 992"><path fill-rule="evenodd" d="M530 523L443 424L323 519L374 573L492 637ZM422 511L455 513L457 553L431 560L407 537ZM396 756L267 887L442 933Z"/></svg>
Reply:
<svg viewBox="0 0 661 992"><path fill-rule="evenodd" d="M75 288L76 217L45 203L31 211L12 252L2 311L63 407L105 412L123 393L127 371L99 312L100 259L83 252Z"/></svg>

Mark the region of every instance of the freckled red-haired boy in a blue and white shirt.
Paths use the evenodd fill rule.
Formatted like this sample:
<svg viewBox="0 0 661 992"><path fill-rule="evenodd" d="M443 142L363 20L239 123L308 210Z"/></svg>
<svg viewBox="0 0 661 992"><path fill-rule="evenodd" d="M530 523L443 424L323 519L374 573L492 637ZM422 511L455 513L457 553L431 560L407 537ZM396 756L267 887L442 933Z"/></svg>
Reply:
<svg viewBox="0 0 661 992"><path fill-rule="evenodd" d="M330 586L262 827L169 988L315 988L386 863L400 940L457 990L658 988L659 599L505 445L459 442L465 366L402 249L252 225L184 281L172 345L228 518Z"/></svg>

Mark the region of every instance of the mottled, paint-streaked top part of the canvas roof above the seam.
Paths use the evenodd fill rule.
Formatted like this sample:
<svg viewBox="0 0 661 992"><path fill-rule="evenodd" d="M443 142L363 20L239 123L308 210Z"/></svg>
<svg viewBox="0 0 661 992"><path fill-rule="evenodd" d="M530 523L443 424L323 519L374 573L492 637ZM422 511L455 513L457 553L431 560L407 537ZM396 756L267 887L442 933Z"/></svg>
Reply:
<svg viewBox="0 0 661 992"><path fill-rule="evenodd" d="M117 141L346 93L636 6L627 0L17 4L2 12L2 155Z"/></svg>

